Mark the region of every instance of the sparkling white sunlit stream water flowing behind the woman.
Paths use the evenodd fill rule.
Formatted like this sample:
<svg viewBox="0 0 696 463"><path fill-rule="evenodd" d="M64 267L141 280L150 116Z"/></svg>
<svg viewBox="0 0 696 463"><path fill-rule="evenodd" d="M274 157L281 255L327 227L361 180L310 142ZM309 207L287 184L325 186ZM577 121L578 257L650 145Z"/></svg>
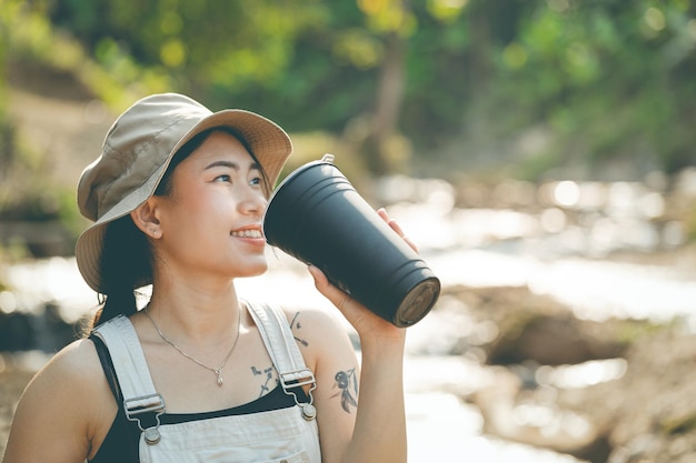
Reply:
<svg viewBox="0 0 696 463"><path fill-rule="evenodd" d="M419 244L444 285L527 285L568 304L584 319L683 316L696 328L690 310L696 306L693 271L601 259L616 250L650 252L683 241L679 223L655 225L652 219L664 209L663 195L643 185L600 189L597 184L558 182L553 189L547 185L549 198L555 201L547 201L534 213L511 208L455 208L451 187L441 181L397 178L381 187L382 200L394 204L389 208L391 215ZM526 188L514 184L507 191L520 201ZM601 204L596 199L599 190L605 193ZM399 194L395 195L395 191ZM420 200L409 200L409 195ZM286 306L335 310L314 289L304 265L280 251L269 251L269 261L271 268L265 275L238 282L242 296ZM6 313L30 311L52 302L60 316L70 322L83 316L96 303L72 259L21 263L3 272L0 280L13 289L0 292L0 310ZM466 330L471 330L467 320L457 318L456 311L445 310L434 311L409 329L405 362L409 461L575 462L569 455L484 433L480 412L460 396L490 386L494 372L466 356L448 355ZM40 363L44 358L38 359ZM547 369L545 381L583 387L618 378L624 370L625 363L618 360L588 362ZM515 420L536 421L540 426L559 423L557 414L538 409L520 409ZM577 432L584 425L567 417L563 423Z"/></svg>

